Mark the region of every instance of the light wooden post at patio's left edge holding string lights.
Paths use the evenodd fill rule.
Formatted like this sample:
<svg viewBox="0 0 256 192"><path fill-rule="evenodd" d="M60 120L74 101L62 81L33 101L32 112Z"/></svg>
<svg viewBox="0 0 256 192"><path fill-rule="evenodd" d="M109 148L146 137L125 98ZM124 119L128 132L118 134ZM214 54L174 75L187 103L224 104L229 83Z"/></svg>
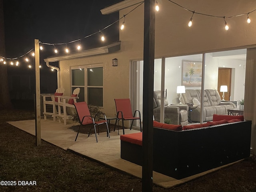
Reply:
<svg viewBox="0 0 256 192"><path fill-rule="evenodd" d="M41 109L40 109L40 59L39 40L35 39L35 70L36 70L36 146L41 145Z"/></svg>

